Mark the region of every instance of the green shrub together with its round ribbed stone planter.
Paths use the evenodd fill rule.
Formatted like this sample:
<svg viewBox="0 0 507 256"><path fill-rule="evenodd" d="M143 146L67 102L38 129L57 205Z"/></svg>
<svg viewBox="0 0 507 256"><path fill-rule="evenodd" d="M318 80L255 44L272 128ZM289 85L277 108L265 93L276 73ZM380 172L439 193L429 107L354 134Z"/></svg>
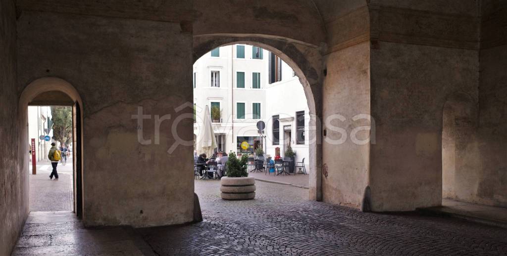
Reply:
<svg viewBox="0 0 507 256"><path fill-rule="evenodd" d="M237 158L234 152L229 153L226 176L220 180L220 196L226 200L245 200L255 198L255 179L248 177L246 163L248 156Z"/></svg>

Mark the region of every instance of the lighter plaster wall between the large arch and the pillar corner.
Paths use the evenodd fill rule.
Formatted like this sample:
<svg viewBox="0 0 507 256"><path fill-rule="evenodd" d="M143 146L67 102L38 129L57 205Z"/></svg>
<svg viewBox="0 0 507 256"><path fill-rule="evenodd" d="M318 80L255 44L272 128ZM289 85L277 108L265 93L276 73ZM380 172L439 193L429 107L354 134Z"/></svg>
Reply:
<svg viewBox="0 0 507 256"><path fill-rule="evenodd" d="M359 126L370 126L370 42L333 52L327 57L323 88L322 194L323 201L359 207L370 171L370 145L354 143L349 135ZM344 119L340 119L339 116ZM343 129L343 130L341 130ZM368 130L358 132L365 140ZM327 170L326 170L327 169ZM326 172L327 171L327 172Z"/></svg>

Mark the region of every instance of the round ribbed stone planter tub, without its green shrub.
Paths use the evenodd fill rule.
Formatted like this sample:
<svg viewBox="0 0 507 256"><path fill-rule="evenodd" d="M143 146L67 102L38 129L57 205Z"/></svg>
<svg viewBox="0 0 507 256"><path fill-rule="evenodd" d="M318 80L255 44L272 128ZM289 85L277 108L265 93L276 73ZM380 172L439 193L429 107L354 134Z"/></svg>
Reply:
<svg viewBox="0 0 507 256"><path fill-rule="evenodd" d="M222 199L248 200L255 198L255 179L253 177L222 177L220 184Z"/></svg>

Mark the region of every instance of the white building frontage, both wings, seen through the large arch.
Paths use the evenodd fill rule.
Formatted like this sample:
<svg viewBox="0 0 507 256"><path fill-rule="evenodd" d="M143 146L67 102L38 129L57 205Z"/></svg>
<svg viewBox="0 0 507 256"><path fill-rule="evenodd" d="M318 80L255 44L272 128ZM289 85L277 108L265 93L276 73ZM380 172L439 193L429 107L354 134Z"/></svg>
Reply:
<svg viewBox="0 0 507 256"><path fill-rule="evenodd" d="M265 154L274 157L275 149L279 148L283 157L287 145L291 145L297 153L296 161L303 158L308 161L306 97L292 68L277 56L255 46L224 46L197 60L193 77L194 135L200 132L208 106L218 145L216 151L241 155L262 147ZM265 138L256 126L260 120L266 123ZM274 129L277 123L278 130ZM245 142L248 147L241 147Z"/></svg>

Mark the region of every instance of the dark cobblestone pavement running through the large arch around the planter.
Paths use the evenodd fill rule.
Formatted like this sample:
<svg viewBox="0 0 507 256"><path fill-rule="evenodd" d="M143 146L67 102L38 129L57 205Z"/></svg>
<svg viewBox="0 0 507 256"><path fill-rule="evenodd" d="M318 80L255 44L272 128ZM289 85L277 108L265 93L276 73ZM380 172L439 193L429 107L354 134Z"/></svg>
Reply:
<svg viewBox="0 0 507 256"><path fill-rule="evenodd" d="M507 230L417 214L373 214L306 200L308 190L257 182L226 201L196 181L204 221L137 229L159 255L506 255Z"/></svg>

